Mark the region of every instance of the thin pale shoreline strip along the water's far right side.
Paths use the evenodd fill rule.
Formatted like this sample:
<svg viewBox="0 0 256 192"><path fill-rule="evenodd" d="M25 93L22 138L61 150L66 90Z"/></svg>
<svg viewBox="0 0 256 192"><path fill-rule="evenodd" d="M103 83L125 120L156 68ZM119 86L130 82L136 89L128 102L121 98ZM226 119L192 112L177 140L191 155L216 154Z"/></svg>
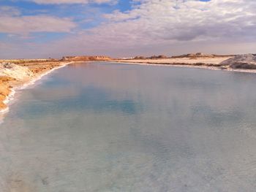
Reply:
<svg viewBox="0 0 256 192"><path fill-rule="evenodd" d="M111 61L114 63L120 64L134 64L134 65L143 65L143 66L176 66L176 67L184 67L184 68L195 68L195 69L208 69L214 71L224 71L224 72L244 72L244 73L256 73L256 69L221 69L219 66L197 66L193 64L161 64L161 63L147 63L147 62L132 62L132 61Z"/></svg>

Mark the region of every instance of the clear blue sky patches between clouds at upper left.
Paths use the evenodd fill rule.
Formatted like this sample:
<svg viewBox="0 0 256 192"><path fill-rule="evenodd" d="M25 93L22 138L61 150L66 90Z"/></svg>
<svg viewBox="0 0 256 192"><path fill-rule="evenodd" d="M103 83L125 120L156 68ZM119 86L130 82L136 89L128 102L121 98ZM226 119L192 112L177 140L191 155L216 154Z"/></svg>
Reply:
<svg viewBox="0 0 256 192"><path fill-rule="evenodd" d="M0 5L18 9L20 16L51 15L59 18L72 18L80 28L92 28L99 25L104 21L104 18L100 16L104 13L113 12L115 9L125 12L132 7L130 1L118 1L117 4L37 4L33 1L3 0L0 1ZM42 33L39 36L42 37ZM47 37L56 38L56 34L45 33L45 38Z"/></svg>

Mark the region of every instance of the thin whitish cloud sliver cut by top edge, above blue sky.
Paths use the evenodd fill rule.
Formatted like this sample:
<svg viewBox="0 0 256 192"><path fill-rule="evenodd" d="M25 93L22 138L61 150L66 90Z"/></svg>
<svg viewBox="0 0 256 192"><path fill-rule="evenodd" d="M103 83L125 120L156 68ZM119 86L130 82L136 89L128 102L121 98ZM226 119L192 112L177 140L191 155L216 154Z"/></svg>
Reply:
<svg viewBox="0 0 256 192"><path fill-rule="evenodd" d="M116 4L117 0L30 0L37 4Z"/></svg>

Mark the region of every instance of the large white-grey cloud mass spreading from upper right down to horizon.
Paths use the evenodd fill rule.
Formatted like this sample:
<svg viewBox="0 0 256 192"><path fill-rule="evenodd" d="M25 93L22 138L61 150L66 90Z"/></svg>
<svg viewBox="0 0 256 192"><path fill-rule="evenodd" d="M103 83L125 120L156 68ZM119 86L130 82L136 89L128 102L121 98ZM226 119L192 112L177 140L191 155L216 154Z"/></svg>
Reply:
<svg viewBox="0 0 256 192"><path fill-rule="evenodd" d="M53 42L44 54L255 52L255 0L134 1L140 4L132 10L104 15L106 23ZM37 48L45 50L46 46Z"/></svg>

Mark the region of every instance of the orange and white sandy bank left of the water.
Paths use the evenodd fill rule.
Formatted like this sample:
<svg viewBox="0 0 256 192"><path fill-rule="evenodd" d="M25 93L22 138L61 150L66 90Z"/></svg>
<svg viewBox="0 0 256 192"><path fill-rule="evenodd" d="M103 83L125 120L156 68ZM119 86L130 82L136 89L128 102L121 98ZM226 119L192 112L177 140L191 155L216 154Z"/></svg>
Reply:
<svg viewBox="0 0 256 192"><path fill-rule="evenodd" d="M34 84L46 74L70 63L42 60L15 61L15 64L2 62L0 64L0 113L8 112L8 103L15 95L16 90Z"/></svg>

